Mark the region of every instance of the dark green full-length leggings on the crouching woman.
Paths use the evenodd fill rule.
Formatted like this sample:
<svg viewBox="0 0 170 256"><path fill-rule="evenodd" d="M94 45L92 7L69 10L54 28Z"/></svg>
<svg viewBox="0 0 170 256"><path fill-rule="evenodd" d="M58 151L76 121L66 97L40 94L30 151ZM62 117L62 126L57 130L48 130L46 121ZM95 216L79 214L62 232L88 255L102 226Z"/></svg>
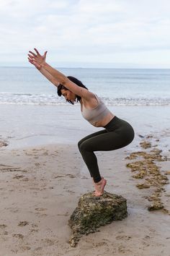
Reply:
<svg viewBox="0 0 170 256"><path fill-rule="evenodd" d="M100 182L99 167L94 151L108 151L123 148L134 138L133 127L127 121L115 116L102 131L94 132L78 143L80 153L94 182Z"/></svg>

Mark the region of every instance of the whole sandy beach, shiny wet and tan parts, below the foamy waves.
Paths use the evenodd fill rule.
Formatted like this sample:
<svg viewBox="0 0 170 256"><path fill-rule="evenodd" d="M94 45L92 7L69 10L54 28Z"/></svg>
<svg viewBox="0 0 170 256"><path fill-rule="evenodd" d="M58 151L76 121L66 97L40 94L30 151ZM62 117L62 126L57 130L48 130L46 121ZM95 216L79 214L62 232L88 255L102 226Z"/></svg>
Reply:
<svg viewBox="0 0 170 256"><path fill-rule="evenodd" d="M97 152L105 190L127 199L128 217L83 236L73 248L68 219L79 197L93 190L77 142L101 128L82 119L79 106L1 105L1 256L170 255L169 184L161 193L166 210L148 211L155 188L138 189L126 166L130 153L149 140L166 157L156 162L162 174L170 171L169 106L109 109L135 129L127 147Z"/></svg>

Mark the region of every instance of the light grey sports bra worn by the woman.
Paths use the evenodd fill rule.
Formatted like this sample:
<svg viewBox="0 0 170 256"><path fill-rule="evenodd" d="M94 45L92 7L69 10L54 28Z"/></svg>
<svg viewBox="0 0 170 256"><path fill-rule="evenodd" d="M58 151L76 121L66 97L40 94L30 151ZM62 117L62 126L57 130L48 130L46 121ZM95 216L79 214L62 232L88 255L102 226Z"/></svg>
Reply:
<svg viewBox="0 0 170 256"><path fill-rule="evenodd" d="M106 116L108 113L110 113L107 106L105 106L104 102L95 94L98 105L96 108L85 108L85 106L82 106L81 114L89 121L90 124L94 125L97 121L100 121Z"/></svg>

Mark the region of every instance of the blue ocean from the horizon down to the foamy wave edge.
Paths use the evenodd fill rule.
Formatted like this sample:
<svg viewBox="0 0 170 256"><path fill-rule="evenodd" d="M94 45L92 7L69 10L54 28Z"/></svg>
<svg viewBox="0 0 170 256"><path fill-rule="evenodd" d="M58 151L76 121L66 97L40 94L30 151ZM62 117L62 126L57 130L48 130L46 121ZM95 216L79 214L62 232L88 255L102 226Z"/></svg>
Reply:
<svg viewBox="0 0 170 256"><path fill-rule="evenodd" d="M170 69L58 68L78 78L107 106L169 106ZM66 105L33 67L0 67L0 104Z"/></svg>

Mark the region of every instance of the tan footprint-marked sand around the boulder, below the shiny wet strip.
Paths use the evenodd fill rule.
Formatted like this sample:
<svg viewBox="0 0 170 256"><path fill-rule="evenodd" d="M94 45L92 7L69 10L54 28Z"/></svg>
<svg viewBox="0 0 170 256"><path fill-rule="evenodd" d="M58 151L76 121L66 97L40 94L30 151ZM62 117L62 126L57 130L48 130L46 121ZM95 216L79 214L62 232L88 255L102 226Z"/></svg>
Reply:
<svg viewBox="0 0 170 256"><path fill-rule="evenodd" d="M128 218L83 236L72 248L68 219L80 195L92 190L76 145L0 149L0 255L169 256L170 216L147 210L152 188L138 189L126 167L128 148L97 153L106 190L127 198ZM161 163L167 171L169 161ZM170 189L163 195L170 205ZM170 210L170 208L169 208Z"/></svg>

